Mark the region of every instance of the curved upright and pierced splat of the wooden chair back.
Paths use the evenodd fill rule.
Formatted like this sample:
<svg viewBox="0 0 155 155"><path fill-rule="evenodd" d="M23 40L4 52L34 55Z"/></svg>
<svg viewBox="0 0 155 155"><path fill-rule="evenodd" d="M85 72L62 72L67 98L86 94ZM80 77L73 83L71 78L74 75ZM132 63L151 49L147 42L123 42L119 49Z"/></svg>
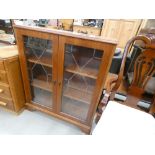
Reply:
<svg viewBox="0 0 155 155"><path fill-rule="evenodd" d="M119 88L123 79L124 67L127 55L131 49L131 46L135 41L141 40L144 42L143 52L137 57L134 63L133 79L130 87L128 88L127 98L125 104L133 108L137 107L137 102L142 98L147 82L155 74L155 46L152 42L154 37L136 36L130 39L125 47L123 60L120 68L120 73L116 80L115 86L111 90L110 100L114 99L117 89Z"/></svg>

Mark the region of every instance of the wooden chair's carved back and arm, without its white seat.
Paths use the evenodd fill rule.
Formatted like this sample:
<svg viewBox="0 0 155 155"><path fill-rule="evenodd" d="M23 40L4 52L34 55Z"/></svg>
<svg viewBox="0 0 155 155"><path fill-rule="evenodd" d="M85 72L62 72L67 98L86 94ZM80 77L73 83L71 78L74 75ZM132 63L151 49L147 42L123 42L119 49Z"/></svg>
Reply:
<svg viewBox="0 0 155 155"><path fill-rule="evenodd" d="M142 110L137 103L142 100L145 93L145 87L150 78L155 74L155 35L139 35L133 37L127 42L118 76L113 76L107 81L106 92L97 109L96 123L100 119L103 109L106 107L108 102L114 100L117 90L124 80L123 73L126 58L135 41L143 42L143 46L141 47L143 52L137 57L134 63L132 83L127 89L125 101L121 102L121 104ZM155 113L155 95L154 98L152 98L152 104L149 108L149 113Z"/></svg>

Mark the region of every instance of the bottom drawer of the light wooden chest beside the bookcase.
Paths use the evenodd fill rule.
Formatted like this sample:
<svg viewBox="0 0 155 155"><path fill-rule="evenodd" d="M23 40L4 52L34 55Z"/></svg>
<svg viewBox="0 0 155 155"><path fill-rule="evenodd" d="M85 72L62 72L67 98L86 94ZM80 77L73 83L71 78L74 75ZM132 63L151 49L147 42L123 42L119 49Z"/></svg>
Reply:
<svg viewBox="0 0 155 155"><path fill-rule="evenodd" d="M5 99L3 97L0 97L0 107L4 107L10 110L14 110L13 101L10 99Z"/></svg>

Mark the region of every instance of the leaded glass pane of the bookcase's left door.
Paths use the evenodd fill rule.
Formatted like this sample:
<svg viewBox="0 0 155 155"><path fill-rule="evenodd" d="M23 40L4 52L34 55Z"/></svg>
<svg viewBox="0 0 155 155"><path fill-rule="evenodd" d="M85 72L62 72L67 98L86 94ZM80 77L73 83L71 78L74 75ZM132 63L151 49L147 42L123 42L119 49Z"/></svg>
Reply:
<svg viewBox="0 0 155 155"><path fill-rule="evenodd" d="M32 102L52 108L52 41L24 36Z"/></svg>

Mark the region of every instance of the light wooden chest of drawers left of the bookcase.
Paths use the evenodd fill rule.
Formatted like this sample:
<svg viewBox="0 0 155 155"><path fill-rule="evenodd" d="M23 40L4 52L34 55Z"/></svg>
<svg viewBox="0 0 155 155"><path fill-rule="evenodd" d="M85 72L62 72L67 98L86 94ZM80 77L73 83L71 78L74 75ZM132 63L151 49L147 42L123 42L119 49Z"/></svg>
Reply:
<svg viewBox="0 0 155 155"><path fill-rule="evenodd" d="M19 113L24 108L25 95L16 46L0 48L0 101L2 107Z"/></svg>

